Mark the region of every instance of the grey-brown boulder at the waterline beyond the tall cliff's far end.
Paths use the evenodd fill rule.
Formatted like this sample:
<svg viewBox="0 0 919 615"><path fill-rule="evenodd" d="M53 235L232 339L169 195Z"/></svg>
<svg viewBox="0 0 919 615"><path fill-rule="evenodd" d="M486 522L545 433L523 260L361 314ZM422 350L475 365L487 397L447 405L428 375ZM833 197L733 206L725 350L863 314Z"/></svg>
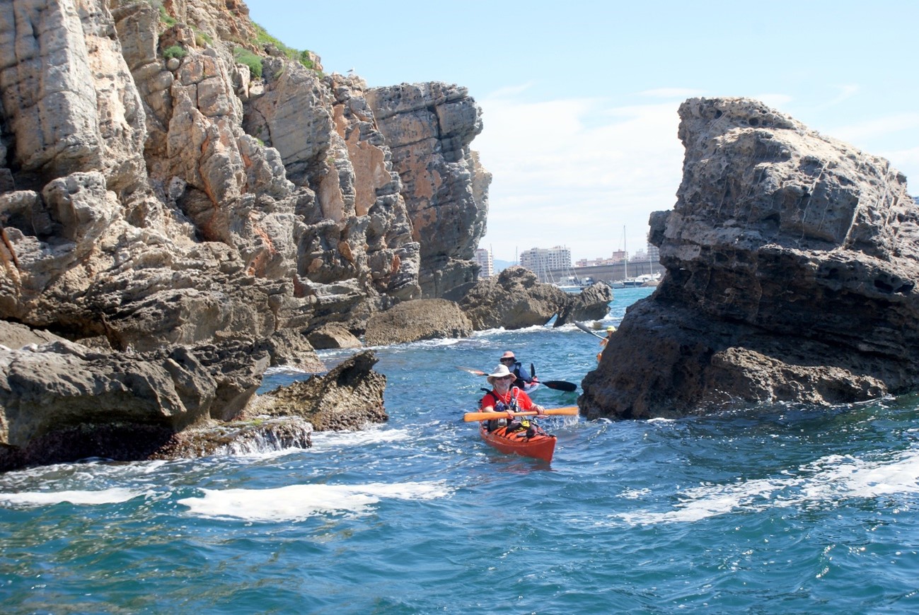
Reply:
<svg viewBox="0 0 919 615"><path fill-rule="evenodd" d="M459 307L472 321L474 330L513 330L546 324L570 301L561 288L539 282L528 269L508 267L472 286L459 301Z"/></svg>

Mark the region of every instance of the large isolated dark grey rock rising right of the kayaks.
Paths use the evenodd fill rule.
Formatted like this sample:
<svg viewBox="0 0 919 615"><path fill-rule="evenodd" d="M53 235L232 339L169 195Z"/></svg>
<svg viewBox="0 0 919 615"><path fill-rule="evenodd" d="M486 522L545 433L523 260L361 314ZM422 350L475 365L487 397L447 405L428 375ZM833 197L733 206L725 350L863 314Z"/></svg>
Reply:
<svg viewBox="0 0 919 615"><path fill-rule="evenodd" d="M886 160L754 100L680 106L667 269L584 379L588 418L841 404L919 384L919 208Z"/></svg>

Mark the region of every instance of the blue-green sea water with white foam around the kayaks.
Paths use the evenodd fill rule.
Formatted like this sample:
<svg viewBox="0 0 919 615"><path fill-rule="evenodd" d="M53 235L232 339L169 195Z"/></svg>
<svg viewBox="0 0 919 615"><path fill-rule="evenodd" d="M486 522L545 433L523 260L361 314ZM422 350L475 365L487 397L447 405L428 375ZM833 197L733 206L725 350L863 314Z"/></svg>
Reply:
<svg viewBox="0 0 919 615"><path fill-rule="evenodd" d="M607 320L648 293L618 289ZM381 348L389 423L308 451L0 475L0 611L919 609L919 398L549 419L551 464L461 421L483 383L454 366L512 349L580 384L598 341L533 328Z"/></svg>

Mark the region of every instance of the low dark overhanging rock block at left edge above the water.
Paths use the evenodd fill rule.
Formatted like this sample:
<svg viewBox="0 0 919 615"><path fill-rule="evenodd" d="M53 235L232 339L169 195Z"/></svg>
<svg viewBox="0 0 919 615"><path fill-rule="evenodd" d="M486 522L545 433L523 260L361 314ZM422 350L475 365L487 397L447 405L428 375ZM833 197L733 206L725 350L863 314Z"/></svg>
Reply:
<svg viewBox="0 0 919 615"><path fill-rule="evenodd" d="M142 458L209 419L218 388L181 346L137 355L64 340L0 347L0 469Z"/></svg>

